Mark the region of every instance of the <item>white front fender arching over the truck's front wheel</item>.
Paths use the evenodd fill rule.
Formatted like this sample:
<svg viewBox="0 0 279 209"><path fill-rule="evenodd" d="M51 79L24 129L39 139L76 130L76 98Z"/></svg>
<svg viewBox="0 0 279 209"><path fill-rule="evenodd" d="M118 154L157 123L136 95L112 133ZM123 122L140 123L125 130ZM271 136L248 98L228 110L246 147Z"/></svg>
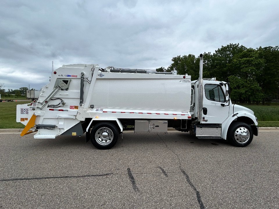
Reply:
<svg viewBox="0 0 279 209"><path fill-rule="evenodd" d="M248 120L252 120L253 121L253 123L255 124L255 126L257 126L258 125L258 122L256 121L256 117L255 117L255 115L253 115L253 114L251 114L251 113L248 113L248 112L246 112L246 111L240 111L240 112L237 112L238 114L237 115L235 115L235 114L231 114L223 123L222 123L222 135L221 135L221 137L223 138L223 139L227 139L227 133L228 133L228 129L229 129L229 127L230 127L230 125L231 125L231 123L233 122L233 121L237 121L237 119L239 118L239 117L245 117L245 118L247 118ZM241 121L241 120L240 120ZM252 123L251 123L252 124Z"/></svg>

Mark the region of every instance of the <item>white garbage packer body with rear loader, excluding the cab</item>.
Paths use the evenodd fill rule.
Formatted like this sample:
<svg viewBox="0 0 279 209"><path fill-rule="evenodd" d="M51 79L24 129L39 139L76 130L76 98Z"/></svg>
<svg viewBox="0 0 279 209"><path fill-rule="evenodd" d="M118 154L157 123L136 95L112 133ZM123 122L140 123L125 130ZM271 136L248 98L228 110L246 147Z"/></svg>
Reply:
<svg viewBox="0 0 279 209"><path fill-rule="evenodd" d="M42 87L37 101L39 103L33 103L31 106L17 105L17 122L26 125L34 114L35 125L55 126L38 129L34 138L55 138L88 119L91 122L115 120L120 131L123 130L119 122L121 118L191 119L189 75L103 72L94 64L63 65L55 72L50 83ZM80 101L82 75L83 101ZM57 80L67 80L68 89L58 89L52 100L47 99L55 90ZM65 102L64 106L47 107L56 105L60 102L59 99ZM89 125L86 128L88 131Z"/></svg>

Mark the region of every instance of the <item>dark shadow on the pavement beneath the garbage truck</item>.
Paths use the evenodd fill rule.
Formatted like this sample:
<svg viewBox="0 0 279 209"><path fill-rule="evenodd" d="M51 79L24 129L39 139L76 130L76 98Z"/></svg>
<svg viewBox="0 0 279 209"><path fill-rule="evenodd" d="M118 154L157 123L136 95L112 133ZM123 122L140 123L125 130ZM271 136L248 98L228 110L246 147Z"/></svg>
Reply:
<svg viewBox="0 0 279 209"><path fill-rule="evenodd" d="M29 139L30 140L30 139ZM29 141L33 148L82 148L82 149L97 149L91 141L86 143L85 134L81 137L76 136L58 136L55 139L33 139ZM220 139L198 139L188 133L171 133L171 134L146 134L146 133L125 133L119 135L119 139L114 147L111 149L126 149L134 147L141 149L142 147L160 148L162 146L181 147L210 147L210 146L231 146L227 140ZM188 147L189 148L189 147Z"/></svg>

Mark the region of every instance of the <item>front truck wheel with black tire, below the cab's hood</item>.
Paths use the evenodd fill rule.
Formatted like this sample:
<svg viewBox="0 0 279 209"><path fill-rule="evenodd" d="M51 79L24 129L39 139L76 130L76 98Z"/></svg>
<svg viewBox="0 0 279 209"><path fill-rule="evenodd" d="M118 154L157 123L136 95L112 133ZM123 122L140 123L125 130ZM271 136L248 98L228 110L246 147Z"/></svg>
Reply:
<svg viewBox="0 0 279 209"><path fill-rule="evenodd" d="M253 140L253 130L244 122L233 122L229 127L227 139L236 147L246 147Z"/></svg>

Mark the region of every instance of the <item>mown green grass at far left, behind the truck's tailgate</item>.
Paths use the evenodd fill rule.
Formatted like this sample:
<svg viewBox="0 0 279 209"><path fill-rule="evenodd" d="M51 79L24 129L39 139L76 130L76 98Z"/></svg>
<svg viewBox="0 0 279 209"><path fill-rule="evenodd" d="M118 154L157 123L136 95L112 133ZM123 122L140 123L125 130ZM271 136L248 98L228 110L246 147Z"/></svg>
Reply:
<svg viewBox="0 0 279 209"><path fill-rule="evenodd" d="M0 129L24 128L25 126L16 122L17 105L26 104L22 102L0 102Z"/></svg>

